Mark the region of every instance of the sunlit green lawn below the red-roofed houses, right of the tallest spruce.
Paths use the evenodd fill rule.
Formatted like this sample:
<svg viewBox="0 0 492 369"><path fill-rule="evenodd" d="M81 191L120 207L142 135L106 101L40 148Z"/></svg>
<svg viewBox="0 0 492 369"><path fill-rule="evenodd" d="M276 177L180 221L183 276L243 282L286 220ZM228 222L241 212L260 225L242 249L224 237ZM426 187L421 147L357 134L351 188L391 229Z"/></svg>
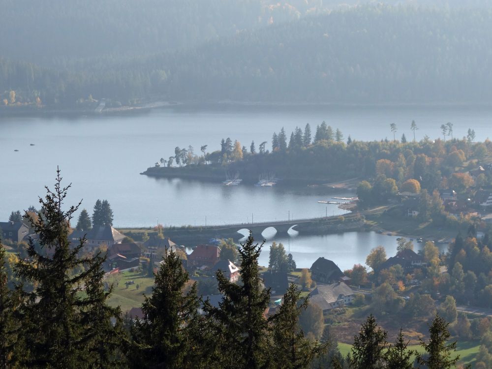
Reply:
<svg viewBox="0 0 492 369"><path fill-rule="evenodd" d="M135 284L125 286L125 281L134 280ZM154 286L154 277L148 277L147 272L123 272L118 277L108 277L108 282L114 284L113 293L109 298L109 305L120 306L123 313L132 307L140 307L144 301L144 293L150 296ZM117 285L118 283L118 285ZM139 289L137 289L137 284Z"/></svg>

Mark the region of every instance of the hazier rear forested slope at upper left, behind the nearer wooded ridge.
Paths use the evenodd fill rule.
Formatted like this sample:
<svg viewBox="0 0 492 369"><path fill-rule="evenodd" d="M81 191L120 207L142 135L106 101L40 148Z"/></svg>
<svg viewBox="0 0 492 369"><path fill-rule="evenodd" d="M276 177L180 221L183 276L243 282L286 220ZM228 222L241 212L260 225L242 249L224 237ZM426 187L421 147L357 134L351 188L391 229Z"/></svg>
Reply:
<svg viewBox="0 0 492 369"><path fill-rule="evenodd" d="M101 55L187 49L295 20L321 0L0 0L1 55L53 65Z"/></svg>

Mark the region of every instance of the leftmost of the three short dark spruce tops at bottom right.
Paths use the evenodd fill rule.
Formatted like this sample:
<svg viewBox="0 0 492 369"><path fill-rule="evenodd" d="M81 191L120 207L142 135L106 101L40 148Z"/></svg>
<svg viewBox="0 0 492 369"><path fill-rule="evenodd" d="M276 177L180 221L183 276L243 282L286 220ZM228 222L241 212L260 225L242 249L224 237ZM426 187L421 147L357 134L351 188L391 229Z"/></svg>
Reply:
<svg viewBox="0 0 492 369"><path fill-rule="evenodd" d="M362 324L361 331L354 338L350 350L351 369L380 369L384 368L384 350L388 333L376 324L374 316L369 315Z"/></svg>

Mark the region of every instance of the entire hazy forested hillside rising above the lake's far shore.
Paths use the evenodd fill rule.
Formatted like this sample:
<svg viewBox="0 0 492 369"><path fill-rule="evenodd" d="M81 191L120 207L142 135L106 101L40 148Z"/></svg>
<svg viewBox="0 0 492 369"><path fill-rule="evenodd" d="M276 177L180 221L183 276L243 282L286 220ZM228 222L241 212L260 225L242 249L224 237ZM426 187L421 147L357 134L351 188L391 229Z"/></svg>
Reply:
<svg viewBox="0 0 492 369"><path fill-rule="evenodd" d="M0 0L2 105L492 99L492 8L231 3Z"/></svg>

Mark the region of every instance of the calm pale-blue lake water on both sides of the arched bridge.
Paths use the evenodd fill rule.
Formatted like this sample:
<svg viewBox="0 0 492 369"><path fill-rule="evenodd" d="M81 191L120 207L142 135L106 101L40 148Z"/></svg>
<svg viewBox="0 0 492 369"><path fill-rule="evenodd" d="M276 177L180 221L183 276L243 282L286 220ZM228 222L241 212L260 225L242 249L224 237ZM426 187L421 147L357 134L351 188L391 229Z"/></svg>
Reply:
<svg viewBox="0 0 492 369"><path fill-rule="evenodd" d="M199 153L201 145L208 145L208 151L213 151L219 149L222 138L231 137L246 147L251 140L256 147L268 141L270 147L272 133L282 126L290 133L296 126L310 123L314 133L316 124L323 120L340 128L345 138L350 135L358 140L391 138L390 123L397 123L398 137L405 133L410 139L412 120L419 127L417 139L425 135L437 138L441 134L439 126L452 122L455 137L465 136L471 127L476 139L484 140L490 134L492 108L178 107L100 118L0 117L0 219L6 220L12 210L37 205L37 196L44 194L43 186L54 183L57 165L66 183L73 183L67 203L83 199L82 206L92 213L98 198L107 199L114 211L114 224L119 227L155 225L157 218L165 225L199 225L205 220L207 224L247 223L251 217L256 222L343 214L336 205L317 201L352 196L353 192L307 186L224 187L139 175L160 157L174 156L176 146L191 145ZM396 247L393 241L383 242L390 240L388 236L347 235L300 236L290 239L290 247L294 253L303 250L305 256L296 255L299 266L307 266L316 255L330 255L324 252L335 250L332 258L343 268L354 263L341 264L343 258L361 262L378 244ZM357 249L361 249L362 259L356 256Z"/></svg>

